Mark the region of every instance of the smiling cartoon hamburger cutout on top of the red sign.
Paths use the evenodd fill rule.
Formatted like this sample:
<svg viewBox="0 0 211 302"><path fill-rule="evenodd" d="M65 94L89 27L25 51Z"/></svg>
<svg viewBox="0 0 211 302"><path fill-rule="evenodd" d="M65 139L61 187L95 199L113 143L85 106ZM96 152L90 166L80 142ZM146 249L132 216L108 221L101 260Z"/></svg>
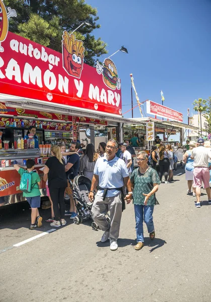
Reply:
<svg viewBox="0 0 211 302"><path fill-rule="evenodd" d="M99 61L97 61L96 70L98 74L102 73L103 82L108 88L111 88L113 90L121 89L121 82L118 78L116 65L111 59L105 59L103 65L101 65Z"/></svg>

